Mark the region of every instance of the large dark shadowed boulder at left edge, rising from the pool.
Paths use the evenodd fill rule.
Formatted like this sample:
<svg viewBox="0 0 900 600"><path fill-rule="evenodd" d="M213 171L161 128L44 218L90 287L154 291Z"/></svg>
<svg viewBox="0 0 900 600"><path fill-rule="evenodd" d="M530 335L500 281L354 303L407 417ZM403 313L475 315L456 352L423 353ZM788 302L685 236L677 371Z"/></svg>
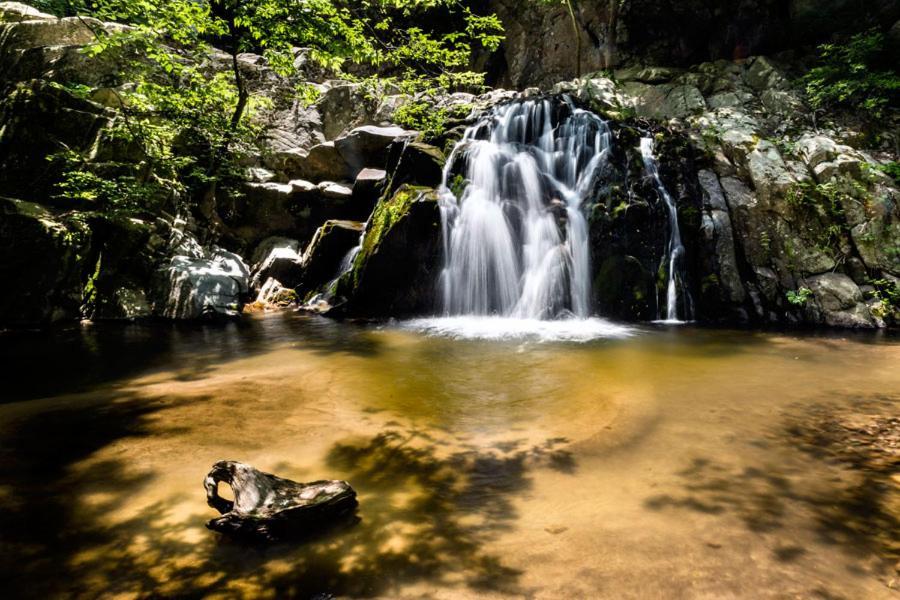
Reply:
<svg viewBox="0 0 900 600"><path fill-rule="evenodd" d="M30 202L0 198L0 326L78 320L90 231Z"/></svg>

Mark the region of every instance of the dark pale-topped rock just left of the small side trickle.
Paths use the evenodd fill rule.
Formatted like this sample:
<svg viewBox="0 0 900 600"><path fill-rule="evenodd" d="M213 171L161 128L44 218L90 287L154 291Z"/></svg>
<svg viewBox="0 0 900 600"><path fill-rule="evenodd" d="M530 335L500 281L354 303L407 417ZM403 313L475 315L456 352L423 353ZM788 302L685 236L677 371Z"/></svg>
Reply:
<svg viewBox="0 0 900 600"><path fill-rule="evenodd" d="M355 221L328 221L313 236L303 253L304 291L318 290L337 279L350 267L350 252L359 246L365 224Z"/></svg>

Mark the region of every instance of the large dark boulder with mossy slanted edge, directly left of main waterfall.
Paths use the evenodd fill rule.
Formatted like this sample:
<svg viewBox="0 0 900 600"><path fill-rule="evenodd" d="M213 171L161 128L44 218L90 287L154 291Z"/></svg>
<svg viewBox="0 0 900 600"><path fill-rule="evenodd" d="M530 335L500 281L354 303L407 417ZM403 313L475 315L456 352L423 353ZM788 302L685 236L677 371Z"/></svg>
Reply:
<svg viewBox="0 0 900 600"><path fill-rule="evenodd" d="M441 264L438 194L403 186L381 200L362 247L338 281L336 313L402 317L430 312Z"/></svg>

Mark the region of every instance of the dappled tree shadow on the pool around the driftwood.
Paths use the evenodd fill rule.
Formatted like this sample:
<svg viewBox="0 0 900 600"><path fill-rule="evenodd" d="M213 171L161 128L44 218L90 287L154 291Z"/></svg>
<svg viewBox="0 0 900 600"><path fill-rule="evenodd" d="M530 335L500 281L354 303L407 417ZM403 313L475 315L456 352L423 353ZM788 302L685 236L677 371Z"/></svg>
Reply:
<svg viewBox="0 0 900 600"><path fill-rule="evenodd" d="M117 460L92 463L90 456L147 435L166 410L161 400L119 398L9 424L0 442L7 547L0 575L8 597L369 597L437 580L523 594L520 573L485 545L515 526L514 500L530 488L532 470L577 468L562 438L479 448L398 424L327 452L329 469L360 494L361 521L353 527L300 544L222 538L202 529L214 514L199 475L196 490L111 520L162 474ZM157 427L153 435L175 433ZM178 505L191 506L189 514L173 514Z"/></svg>

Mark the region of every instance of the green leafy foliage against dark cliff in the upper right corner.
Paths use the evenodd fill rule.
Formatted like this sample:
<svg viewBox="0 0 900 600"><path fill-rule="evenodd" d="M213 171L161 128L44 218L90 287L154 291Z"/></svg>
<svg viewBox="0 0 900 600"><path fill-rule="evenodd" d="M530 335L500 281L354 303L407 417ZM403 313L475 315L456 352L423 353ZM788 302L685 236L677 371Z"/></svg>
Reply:
<svg viewBox="0 0 900 600"><path fill-rule="evenodd" d="M881 117L900 100L896 57L877 29L858 33L843 44L819 46L819 64L803 82L814 108L842 107Z"/></svg>

